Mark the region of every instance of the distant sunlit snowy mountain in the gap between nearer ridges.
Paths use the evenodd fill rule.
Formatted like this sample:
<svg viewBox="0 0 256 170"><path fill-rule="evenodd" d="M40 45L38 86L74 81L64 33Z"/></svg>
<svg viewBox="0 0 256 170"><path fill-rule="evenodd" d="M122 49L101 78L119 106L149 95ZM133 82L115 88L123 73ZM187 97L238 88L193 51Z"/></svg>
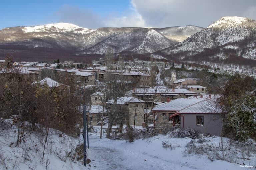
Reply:
<svg viewBox="0 0 256 170"><path fill-rule="evenodd" d="M203 29L204 28L197 27L197 26L185 26L185 27L166 27L166 28L160 28L155 30L172 41L182 42L186 38L194 35L195 33Z"/></svg>

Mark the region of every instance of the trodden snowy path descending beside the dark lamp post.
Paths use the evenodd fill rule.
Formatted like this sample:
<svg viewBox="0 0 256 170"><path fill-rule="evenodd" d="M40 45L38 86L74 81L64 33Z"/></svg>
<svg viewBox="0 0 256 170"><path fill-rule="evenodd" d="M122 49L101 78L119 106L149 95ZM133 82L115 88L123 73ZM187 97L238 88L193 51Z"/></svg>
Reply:
<svg viewBox="0 0 256 170"><path fill-rule="evenodd" d="M132 148L127 147L115 147L115 145L108 145L107 139L99 140L98 136L90 136L90 152L88 157L91 160L101 160L95 166L101 170L172 170L180 169L184 167L185 169L197 169L194 166L189 166L187 163L180 163L169 160L162 159L157 155L150 155L146 152L136 152ZM115 142L123 141L112 141ZM103 144L103 145L102 145ZM132 145L131 143L127 143ZM108 146L108 147L106 147ZM113 148L114 147L114 148ZM168 159L168 158L167 158Z"/></svg>

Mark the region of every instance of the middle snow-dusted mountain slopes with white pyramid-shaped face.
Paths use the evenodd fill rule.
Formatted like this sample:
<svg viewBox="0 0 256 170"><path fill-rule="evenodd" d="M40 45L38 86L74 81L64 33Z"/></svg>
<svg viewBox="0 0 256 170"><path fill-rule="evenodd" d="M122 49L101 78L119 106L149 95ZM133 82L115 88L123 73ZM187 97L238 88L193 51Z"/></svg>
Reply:
<svg viewBox="0 0 256 170"><path fill-rule="evenodd" d="M86 49L84 53L103 54L107 48L112 48L114 53L121 51L148 53L174 44L155 30L135 27L105 29L109 30L110 36L95 46Z"/></svg>

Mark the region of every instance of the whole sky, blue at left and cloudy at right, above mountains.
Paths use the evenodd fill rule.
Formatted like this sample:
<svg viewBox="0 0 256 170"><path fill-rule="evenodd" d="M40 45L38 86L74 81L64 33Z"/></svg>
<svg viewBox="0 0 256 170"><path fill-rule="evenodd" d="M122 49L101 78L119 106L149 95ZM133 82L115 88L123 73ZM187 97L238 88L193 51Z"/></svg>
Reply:
<svg viewBox="0 0 256 170"><path fill-rule="evenodd" d="M0 29L50 23L81 27L207 27L223 16L256 19L256 0L1 0Z"/></svg>

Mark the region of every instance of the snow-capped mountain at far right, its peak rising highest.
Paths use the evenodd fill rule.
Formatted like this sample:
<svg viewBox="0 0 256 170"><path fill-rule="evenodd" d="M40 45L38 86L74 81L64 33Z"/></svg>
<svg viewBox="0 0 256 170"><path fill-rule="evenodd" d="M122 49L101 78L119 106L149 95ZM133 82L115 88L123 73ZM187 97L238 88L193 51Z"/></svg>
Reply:
<svg viewBox="0 0 256 170"><path fill-rule="evenodd" d="M222 17L183 42L162 50L164 54L204 55L225 58L229 55L256 60L256 21L243 17ZM229 50L228 52L226 52ZM209 52L210 51L210 52Z"/></svg>

